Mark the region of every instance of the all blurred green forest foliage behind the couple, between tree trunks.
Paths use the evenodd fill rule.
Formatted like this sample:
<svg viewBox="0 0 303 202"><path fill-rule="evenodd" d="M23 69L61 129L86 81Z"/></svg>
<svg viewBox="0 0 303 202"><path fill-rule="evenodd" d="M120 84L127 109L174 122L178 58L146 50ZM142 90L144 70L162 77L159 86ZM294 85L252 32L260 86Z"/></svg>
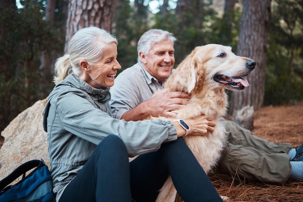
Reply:
<svg viewBox="0 0 303 202"><path fill-rule="evenodd" d="M182 18L177 0L160 1L157 11L150 6L152 1L116 0L111 32L118 38L122 70L136 63L136 43L152 28L173 32L178 39L176 65L194 47L207 43L230 45L237 52L241 0L228 16L222 5L196 0L188 4L191 7ZM163 2L170 3L167 9ZM67 0L56 0L52 22L45 20L46 0L20 0L17 5L0 8L0 131L35 101L45 99L54 87L52 71L43 73L40 67L43 51L54 53L51 70L54 57L64 54ZM264 105L302 101L303 0L272 0L271 14Z"/></svg>

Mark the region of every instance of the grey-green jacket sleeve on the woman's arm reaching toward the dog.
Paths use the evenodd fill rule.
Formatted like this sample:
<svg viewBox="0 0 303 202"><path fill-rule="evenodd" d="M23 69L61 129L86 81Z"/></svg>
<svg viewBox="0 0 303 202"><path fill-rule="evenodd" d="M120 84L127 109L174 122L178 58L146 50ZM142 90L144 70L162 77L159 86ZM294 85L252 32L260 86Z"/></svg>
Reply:
<svg viewBox="0 0 303 202"><path fill-rule="evenodd" d="M99 144L107 135L118 135L126 144L130 156L156 151L162 143L177 139L177 131L169 121L126 122L115 119L90 102L82 91L57 93L49 97L45 115L48 116L44 117L47 118L47 123L44 123L47 130L56 130L55 126L61 125L63 130L93 144ZM53 120L60 120L60 123L54 124Z"/></svg>

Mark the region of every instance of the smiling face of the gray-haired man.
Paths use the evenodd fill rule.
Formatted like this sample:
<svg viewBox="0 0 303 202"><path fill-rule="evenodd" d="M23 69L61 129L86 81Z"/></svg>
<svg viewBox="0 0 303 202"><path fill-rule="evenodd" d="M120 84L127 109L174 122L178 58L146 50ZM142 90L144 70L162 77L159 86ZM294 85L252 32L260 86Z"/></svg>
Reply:
<svg viewBox="0 0 303 202"><path fill-rule="evenodd" d="M154 43L147 55L141 55L142 64L160 84L170 75L175 64L174 46L170 40Z"/></svg>

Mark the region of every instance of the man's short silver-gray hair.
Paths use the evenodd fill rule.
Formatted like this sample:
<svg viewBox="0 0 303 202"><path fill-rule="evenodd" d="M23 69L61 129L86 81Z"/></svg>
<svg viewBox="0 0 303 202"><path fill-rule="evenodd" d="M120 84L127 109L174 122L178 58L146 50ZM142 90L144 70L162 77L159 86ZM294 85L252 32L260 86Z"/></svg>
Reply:
<svg viewBox="0 0 303 202"><path fill-rule="evenodd" d="M137 52L138 52L138 63L141 63L141 58L139 57L139 52L147 55L148 52L151 50L152 46L155 43L170 40L171 43L174 45L174 42L177 40L174 37L173 33L162 29L150 29L146 31L139 39L137 44Z"/></svg>

